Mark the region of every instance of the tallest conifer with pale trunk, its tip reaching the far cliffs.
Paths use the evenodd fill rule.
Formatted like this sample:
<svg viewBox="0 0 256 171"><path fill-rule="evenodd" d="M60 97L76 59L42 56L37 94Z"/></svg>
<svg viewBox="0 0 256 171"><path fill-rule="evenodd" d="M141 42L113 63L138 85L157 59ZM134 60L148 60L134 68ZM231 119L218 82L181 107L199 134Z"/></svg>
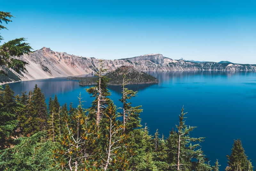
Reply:
<svg viewBox="0 0 256 171"><path fill-rule="evenodd" d="M92 101L92 107L90 108L90 114L93 114L96 119L96 125L99 126L100 120L103 115L103 111L107 107L110 99L107 96L110 96L110 92L107 89L108 86L108 78L103 74L107 71L107 69L103 69L102 60L100 60L100 68L98 68L97 73L98 80L96 81L96 85L94 87L90 87L86 89L86 92L92 94L92 97L95 97L95 100Z"/></svg>

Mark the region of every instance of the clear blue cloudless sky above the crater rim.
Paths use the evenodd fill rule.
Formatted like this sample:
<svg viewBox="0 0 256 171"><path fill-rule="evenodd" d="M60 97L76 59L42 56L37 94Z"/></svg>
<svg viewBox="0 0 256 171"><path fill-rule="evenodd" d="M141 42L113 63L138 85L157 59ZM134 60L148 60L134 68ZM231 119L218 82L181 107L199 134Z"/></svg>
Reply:
<svg viewBox="0 0 256 171"><path fill-rule="evenodd" d="M34 50L83 57L256 64L255 0L12 0L0 11L15 16L0 45L24 37Z"/></svg>

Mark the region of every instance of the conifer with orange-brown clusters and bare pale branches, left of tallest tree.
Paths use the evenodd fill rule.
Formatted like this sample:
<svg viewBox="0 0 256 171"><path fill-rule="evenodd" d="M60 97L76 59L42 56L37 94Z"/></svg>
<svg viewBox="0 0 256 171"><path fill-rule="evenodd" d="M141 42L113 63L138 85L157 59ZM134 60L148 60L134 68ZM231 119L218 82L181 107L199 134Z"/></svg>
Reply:
<svg viewBox="0 0 256 171"><path fill-rule="evenodd" d="M71 115L65 115L64 122L66 131L61 138L64 145L65 158L68 159L69 170L82 170L87 167L88 158L92 155L90 145L92 144L92 134L88 125L87 116L82 108L81 94L79 95L79 105Z"/></svg>

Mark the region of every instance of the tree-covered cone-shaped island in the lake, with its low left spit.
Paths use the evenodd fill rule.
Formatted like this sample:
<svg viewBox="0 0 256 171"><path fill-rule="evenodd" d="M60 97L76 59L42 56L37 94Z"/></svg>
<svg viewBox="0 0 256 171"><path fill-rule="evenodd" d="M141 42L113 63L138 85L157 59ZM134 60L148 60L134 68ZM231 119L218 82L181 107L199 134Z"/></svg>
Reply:
<svg viewBox="0 0 256 171"><path fill-rule="evenodd" d="M158 83L158 79L135 69L132 66L121 66L116 70L108 72L105 76L108 78L109 85L122 85L123 76L127 80L126 84L155 84ZM80 85L94 85L98 80L97 77L72 77L68 79L81 80Z"/></svg>

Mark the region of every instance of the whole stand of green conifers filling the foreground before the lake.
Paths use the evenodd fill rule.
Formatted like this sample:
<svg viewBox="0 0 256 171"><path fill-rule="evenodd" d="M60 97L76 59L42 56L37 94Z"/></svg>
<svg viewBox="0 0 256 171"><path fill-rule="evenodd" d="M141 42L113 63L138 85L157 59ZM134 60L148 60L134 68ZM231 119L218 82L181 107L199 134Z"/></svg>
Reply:
<svg viewBox="0 0 256 171"><path fill-rule="evenodd" d="M141 106L129 102L137 92L126 88L125 75L117 112L100 66L96 85L86 89L94 97L90 108L83 108L81 95L77 107L60 106L56 95L47 105L37 85L21 96L9 85L1 87L0 170L219 170L218 160L212 166L203 153L204 138L190 136L196 127L186 125L183 108L169 137L158 130L149 135L141 125ZM241 141L234 140L226 171L253 171L247 158Z"/></svg>

